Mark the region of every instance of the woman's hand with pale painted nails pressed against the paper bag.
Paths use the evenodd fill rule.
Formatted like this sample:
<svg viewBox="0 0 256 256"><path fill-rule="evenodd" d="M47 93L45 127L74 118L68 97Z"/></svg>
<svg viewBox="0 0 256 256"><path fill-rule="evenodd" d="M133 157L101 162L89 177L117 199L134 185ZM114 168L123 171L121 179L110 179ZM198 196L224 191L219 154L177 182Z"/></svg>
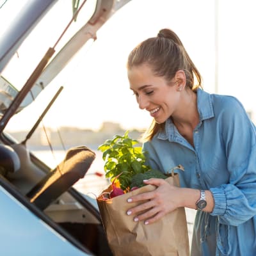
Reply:
<svg viewBox="0 0 256 256"><path fill-rule="evenodd" d="M179 189L170 185L164 179L149 179L144 180L145 184L151 184L157 188L154 191L141 193L136 196L131 196L127 202L147 202L137 205L127 211L128 215L138 214L138 212L145 211L134 217L134 221L145 220L145 225L153 223L162 218L168 212L172 212L180 205Z"/></svg>

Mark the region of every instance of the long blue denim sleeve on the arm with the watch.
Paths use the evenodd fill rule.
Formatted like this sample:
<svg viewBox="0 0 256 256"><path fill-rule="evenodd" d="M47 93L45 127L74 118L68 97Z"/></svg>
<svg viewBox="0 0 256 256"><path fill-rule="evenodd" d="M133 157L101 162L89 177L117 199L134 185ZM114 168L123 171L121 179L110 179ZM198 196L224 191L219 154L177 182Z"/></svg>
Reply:
<svg viewBox="0 0 256 256"><path fill-rule="evenodd" d="M237 226L256 215L256 132L240 102L232 102L220 117L230 179L210 191L211 215L221 224Z"/></svg>

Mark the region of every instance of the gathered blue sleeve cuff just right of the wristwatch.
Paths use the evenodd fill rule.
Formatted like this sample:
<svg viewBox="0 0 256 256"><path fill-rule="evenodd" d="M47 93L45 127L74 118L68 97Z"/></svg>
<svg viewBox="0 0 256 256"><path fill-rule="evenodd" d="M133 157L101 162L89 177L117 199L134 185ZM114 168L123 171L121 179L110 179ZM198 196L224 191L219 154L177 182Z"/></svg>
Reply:
<svg viewBox="0 0 256 256"><path fill-rule="evenodd" d="M224 215L227 209L227 198L223 188L211 188L212 196L214 198L214 209L211 212L212 216Z"/></svg>

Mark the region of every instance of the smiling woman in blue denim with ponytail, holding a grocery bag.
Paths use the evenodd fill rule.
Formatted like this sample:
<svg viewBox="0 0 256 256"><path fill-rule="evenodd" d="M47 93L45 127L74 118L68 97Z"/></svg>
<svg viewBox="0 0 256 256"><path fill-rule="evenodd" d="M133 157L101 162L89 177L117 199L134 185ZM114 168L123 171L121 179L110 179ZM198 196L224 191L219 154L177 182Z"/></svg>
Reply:
<svg viewBox="0 0 256 256"><path fill-rule="evenodd" d="M181 188L162 179L128 202L149 225L177 207L197 209L191 255L256 255L256 129L234 97L202 90L179 37L161 29L129 55L127 74L141 109L154 118L143 150L154 169L178 170ZM138 214L141 210L147 210Z"/></svg>

